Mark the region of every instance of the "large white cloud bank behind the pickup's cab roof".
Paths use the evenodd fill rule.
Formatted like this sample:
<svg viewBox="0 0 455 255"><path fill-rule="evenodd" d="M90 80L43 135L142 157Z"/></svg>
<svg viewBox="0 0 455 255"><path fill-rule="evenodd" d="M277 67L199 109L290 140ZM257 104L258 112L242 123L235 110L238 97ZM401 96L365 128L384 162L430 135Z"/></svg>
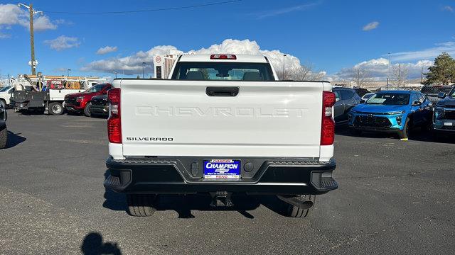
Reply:
<svg viewBox="0 0 455 255"><path fill-rule="evenodd" d="M124 74L141 74L142 62L146 62L146 71L152 72L153 57L157 54L168 54L170 50L177 50L171 45L161 45L152 47L150 50L137 52L134 55L121 58L110 58L90 62L82 67L82 71L92 72L119 72ZM189 52L207 54L207 53L227 53L227 54L250 54L265 55L274 65L274 68L280 70L283 68L283 52L279 50L261 50L256 41L250 40L232 40L226 39L220 44L211 45L208 48L199 50L190 50ZM300 66L300 60L297 57L287 54L285 57L285 67L291 69Z"/></svg>

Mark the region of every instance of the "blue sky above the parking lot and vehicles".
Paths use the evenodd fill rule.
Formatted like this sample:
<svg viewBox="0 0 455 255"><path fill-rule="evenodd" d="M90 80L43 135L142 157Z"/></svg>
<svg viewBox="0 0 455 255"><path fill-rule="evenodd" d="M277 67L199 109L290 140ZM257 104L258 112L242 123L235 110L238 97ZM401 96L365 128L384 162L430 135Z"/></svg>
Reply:
<svg viewBox="0 0 455 255"><path fill-rule="evenodd" d="M407 64L414 76L442 50L455 57L453 0L243 0L173 11L53 13L135 11L213 2L217 0L36 1L34 8L44 11L44 16L36 16L41 19L36 21L35 33L38 71L65 74L72 69L71 74L112 77L114 69L122 73L119 69L129 68L127 73L135 75L141 73L139 62L152 62L150 54L156 51L149 50L157 45L186 52L220 46L226 39L239 41L225 42L223 50L242 50L255 41L261 50L294 56L289 64L299 60L337 78L347 77L356 66L384 77L387 52L391 52L392 64ZM16 2L0 4L0 75L29 73L26 16L8 5ZM107 53L97 54L106 46ZM146 72L151 72L151 66Z"/></svg>

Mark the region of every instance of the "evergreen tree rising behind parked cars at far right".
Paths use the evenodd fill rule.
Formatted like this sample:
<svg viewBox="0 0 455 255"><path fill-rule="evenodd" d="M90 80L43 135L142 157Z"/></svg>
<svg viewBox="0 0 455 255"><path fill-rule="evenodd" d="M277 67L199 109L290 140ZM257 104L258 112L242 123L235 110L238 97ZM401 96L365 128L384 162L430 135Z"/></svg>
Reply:
<svg viewBox="0 0 455 255"><path fill-rule="evenodd" d="M424 84L444 84L449 85L455 82L455 60L447 52L434 59L434 65L428 68L425 74L427 80Z"/></svg>

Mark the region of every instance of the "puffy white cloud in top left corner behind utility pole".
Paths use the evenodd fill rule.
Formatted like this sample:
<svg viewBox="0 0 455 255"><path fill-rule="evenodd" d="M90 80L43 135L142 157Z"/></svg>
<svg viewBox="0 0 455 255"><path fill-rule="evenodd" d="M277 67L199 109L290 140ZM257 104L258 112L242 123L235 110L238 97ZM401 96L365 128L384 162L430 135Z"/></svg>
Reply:
<svg viewBox="0 0 455 255"><path fill-rule="evenodd" d="M57 22L53 22L50 21L48 16L36 14L33 18L33 28L36 31L54 30L57 28L58 23L62 23L62 21L63 20L58 20ZM15 4L0 4L0 28L9 28L14 25L28 28L28 11L16 6Z"/></svg>

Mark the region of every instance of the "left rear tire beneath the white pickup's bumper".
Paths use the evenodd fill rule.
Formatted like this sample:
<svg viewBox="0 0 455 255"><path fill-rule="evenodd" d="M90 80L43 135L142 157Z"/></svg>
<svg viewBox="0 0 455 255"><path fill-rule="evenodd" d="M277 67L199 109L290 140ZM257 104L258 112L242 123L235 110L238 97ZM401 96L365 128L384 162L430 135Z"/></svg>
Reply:
<svg viewBox="0 0 455 255"><path fill-rule="evenodd" d="M127 194L128 214L135 217L154 215L156 195Z"/></svg>

